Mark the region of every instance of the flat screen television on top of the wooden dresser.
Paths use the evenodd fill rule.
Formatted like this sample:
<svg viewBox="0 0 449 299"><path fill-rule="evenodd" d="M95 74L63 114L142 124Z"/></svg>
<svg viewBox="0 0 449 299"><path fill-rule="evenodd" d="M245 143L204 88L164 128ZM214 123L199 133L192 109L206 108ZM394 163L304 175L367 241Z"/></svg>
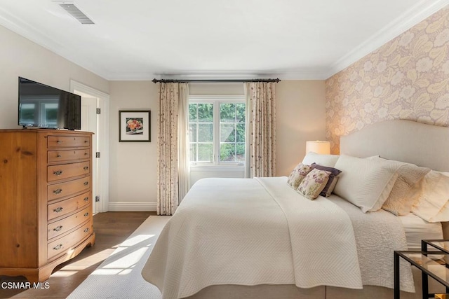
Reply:
<svg viewBox="0 0 449 299"><path fill-rule="evenodd" d="M19 77L18 124L81 130L81 96Z"/></svg>

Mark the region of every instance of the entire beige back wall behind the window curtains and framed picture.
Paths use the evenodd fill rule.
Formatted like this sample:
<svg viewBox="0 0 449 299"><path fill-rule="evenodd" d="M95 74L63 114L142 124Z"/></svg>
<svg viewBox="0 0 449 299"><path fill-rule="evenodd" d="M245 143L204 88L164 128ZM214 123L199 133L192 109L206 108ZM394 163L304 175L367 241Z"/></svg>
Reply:
<svg viewBox="0 0 449 299"><path fill-rule="evenodd" d="M191 95L241 95L243 84L191 84ZM109 211L156 210L158 85L150 81L110 82ZM288 175L304 157L305 141L324 139L324 81L281 81L277 96L277 172ZM152 142L119 142L119 110L151 109ZM222 177L239 172L225 172ZM243 176L243 172L241 172ZM215 173L194 172L192 180Z"/></svg>

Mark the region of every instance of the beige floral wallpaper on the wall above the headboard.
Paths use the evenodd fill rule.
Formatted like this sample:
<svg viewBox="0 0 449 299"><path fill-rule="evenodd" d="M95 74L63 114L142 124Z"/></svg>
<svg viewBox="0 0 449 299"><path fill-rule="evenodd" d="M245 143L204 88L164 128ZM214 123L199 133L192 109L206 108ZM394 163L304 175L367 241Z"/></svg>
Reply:
<svg viewBox="0 0 449 299"><path fill-rule="evenodd" d="M449 127L449 6L326 80L326 138L382 120Z"/></svg>

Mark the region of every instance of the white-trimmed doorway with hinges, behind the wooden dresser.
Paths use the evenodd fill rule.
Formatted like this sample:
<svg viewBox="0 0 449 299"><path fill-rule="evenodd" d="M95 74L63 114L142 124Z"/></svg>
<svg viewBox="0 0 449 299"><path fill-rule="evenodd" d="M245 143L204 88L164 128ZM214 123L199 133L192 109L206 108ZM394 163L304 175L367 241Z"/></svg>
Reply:
<svg viewBox="0 0 449 299"><path fill-rule="evenodd" d="M93 213L109 206L109 95L71 80L70 90L81 95L81 130L93 132Z"/></svg>

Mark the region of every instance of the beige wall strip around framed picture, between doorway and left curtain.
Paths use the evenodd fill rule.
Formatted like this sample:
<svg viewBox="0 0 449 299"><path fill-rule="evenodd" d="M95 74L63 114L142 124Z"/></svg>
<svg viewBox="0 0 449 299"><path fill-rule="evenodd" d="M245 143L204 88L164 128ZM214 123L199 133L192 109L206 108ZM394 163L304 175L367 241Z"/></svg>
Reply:
<svg viewBox="0 0 449 299"><path fill-rule="evenodd" d="M111 81L109 211L156 211L158 85ZM151 110L151 142L119 142L120 110Z"/></svg>

